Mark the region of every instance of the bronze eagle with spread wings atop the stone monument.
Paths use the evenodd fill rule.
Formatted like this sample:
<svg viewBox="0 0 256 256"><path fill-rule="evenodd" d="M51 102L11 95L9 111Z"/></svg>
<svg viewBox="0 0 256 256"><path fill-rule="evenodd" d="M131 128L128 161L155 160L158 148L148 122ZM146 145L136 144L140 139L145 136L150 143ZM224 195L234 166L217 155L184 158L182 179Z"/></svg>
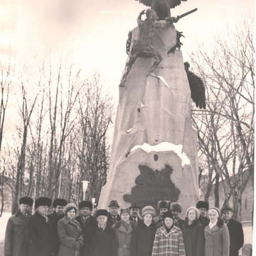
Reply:
<svg viewBox="0 0 256 256"><path fill-rule="evenodd" d="M170 18L170 9L187 0L135 0L155 10L159 20Z"/></svg>

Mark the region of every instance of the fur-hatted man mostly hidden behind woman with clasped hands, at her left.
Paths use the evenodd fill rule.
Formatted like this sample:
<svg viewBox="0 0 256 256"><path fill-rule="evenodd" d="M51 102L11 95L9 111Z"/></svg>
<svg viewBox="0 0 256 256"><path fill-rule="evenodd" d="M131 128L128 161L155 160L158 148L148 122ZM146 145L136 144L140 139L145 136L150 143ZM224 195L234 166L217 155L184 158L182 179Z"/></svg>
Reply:
<svg viewBox="0 0 256 256"><path fill-rule="evenodd" d="M62 219L64 214L64 207L68 204L67 200L62 198L56 198L52 203L52 207L54 207L54 212L49 214L47 217L51 223L52 228L52 236L53 236L53 243L54 243L54 255L58 255L60 249L60 240L57 231L58 221Z"/></svg>

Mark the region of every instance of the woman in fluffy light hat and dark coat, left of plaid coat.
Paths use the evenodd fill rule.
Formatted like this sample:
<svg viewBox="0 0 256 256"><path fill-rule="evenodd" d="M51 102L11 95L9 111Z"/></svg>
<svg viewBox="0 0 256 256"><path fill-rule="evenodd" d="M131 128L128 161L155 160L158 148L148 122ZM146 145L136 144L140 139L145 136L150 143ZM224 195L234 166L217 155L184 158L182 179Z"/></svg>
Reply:
<svg viewBox="0 0 256 256"><path fill-rule="evenodd" d="M156 233L155 209L145 206L142 209L143 221L138 222L132 233L132 256L151 256L153 241Z"/></svg>

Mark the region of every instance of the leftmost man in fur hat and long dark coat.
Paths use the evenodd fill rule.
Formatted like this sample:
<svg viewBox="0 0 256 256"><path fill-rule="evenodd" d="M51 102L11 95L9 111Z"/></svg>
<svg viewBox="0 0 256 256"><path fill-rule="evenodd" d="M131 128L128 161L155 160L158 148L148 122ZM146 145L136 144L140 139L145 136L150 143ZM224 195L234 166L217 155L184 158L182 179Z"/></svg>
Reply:
<svg viewBox="0 0 256 256"><path fill-rule="evenodd" d="M28 244L25 240L25 225L31 216L30 208L33 199L22 197L19 199L19 210L7 222L4 240L5 256L27 256Z"/></svg>

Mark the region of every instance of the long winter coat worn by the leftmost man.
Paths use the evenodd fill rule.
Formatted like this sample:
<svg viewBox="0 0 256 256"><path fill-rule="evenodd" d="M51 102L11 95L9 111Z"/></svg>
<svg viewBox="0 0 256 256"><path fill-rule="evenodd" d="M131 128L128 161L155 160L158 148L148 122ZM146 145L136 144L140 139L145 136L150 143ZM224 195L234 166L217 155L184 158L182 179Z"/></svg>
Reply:
<svg viewBox="0 0 256 256"><path fill-rule="evenodd" d="M31 214L28 214L31 217ZM4 255L27 256L28 244L25 240L25 225L27 217L20 210L7 222L4 240Z"/></svg>

